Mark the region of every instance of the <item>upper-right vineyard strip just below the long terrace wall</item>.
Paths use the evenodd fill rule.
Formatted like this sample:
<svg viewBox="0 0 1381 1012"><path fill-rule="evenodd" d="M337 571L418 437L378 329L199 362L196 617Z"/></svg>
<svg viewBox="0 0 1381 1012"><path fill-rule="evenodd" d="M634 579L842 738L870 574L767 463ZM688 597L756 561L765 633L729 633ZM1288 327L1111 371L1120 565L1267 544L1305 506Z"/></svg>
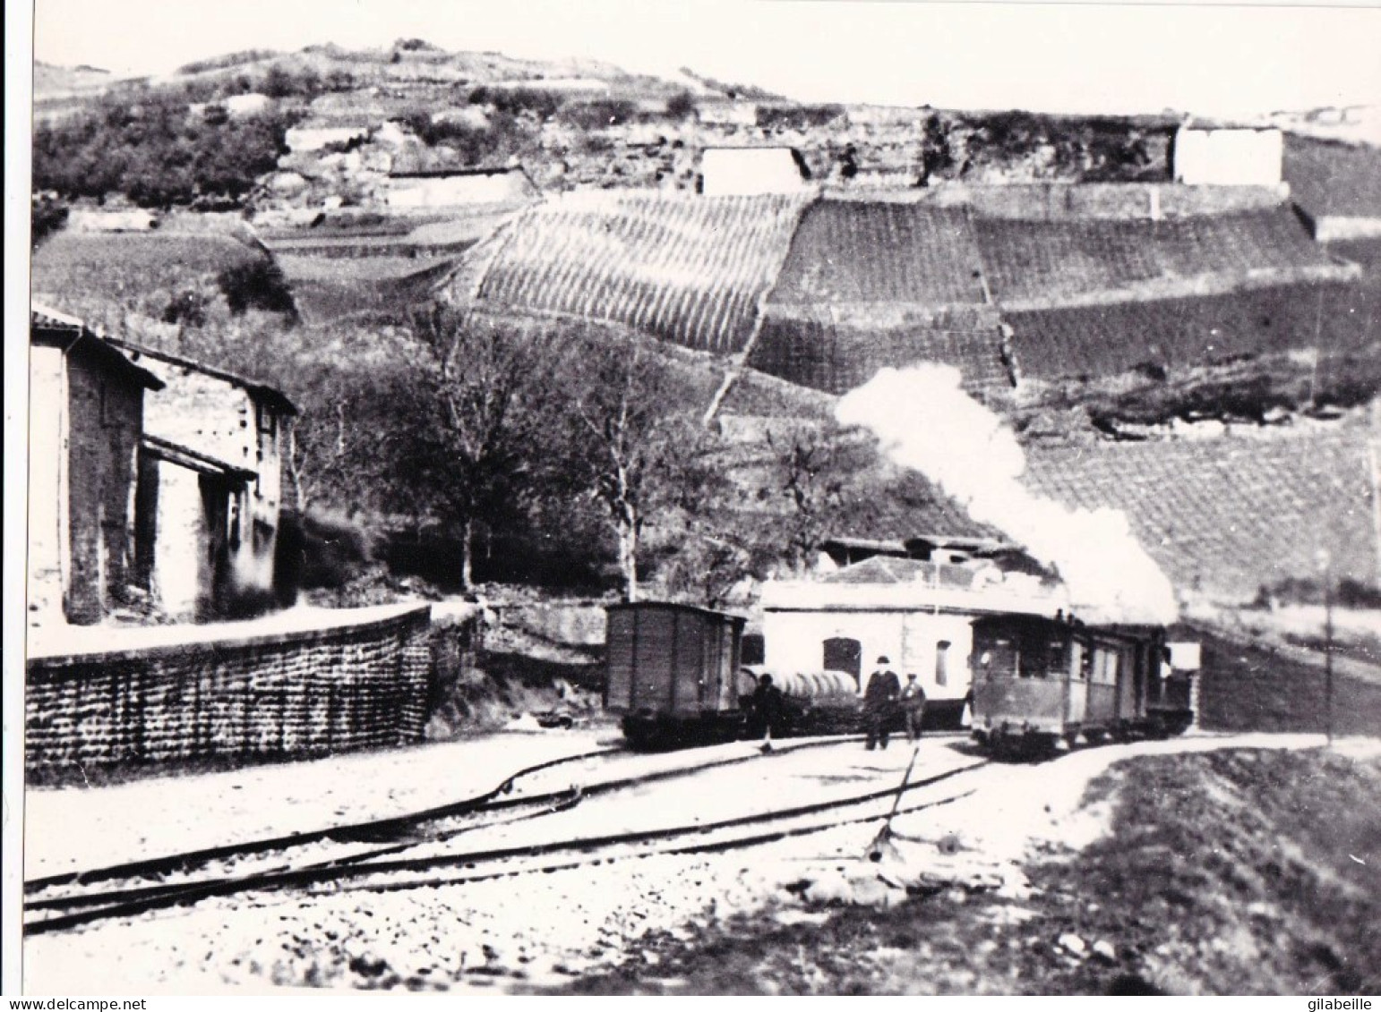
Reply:
<svg viewBox="0 0 1381 1012"><path fill-rule="evenodd" d="M974 229L993 295L1011 309L1214 275L1340 271L1283 207L1171 221L975 218Z"/></svg>

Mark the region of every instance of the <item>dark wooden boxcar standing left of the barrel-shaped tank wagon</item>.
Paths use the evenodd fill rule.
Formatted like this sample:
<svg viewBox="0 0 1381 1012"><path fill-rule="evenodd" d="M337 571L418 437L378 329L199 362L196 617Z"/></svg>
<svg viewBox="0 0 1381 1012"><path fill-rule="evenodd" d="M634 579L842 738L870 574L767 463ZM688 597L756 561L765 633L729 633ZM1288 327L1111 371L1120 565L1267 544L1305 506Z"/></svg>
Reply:
<svg viewBox="0 0 1381 1012"><path fill-rule="evenodd" d="M605 710L634 747L729 741L743 733L744 619L690 605L606 609Z"/></svg>

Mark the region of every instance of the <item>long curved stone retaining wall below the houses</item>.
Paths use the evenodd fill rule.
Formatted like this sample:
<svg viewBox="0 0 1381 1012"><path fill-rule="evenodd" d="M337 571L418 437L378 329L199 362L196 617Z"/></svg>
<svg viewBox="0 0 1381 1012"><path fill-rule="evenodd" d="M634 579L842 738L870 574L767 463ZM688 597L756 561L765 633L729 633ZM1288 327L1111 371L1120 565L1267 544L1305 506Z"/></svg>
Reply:
<svg viewBox="0 0 1381 1012"><path fill-rule="evenodd" d="M25 765L309 757L421 739L427 606L283 619L101 630L117 649L30 656Z"/></svg>

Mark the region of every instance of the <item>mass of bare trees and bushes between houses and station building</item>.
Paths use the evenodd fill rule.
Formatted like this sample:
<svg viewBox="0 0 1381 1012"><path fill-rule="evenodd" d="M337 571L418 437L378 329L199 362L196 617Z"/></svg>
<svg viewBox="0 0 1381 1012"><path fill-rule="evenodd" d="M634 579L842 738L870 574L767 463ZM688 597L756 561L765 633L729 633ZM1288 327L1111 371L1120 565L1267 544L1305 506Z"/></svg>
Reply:
<svg viewBox="0 0 1381 1012"><path fill-rule="evenodd" d="M458 547L526 532L646 592L707 605L811 565L876 509L876 450L827 424L744 443L703 424L714 377L646 337L432 304L398 326L284 326L249 313L185 327L181 353L275 382L302 414L289 498L377 525L425 523Z"/></svg>

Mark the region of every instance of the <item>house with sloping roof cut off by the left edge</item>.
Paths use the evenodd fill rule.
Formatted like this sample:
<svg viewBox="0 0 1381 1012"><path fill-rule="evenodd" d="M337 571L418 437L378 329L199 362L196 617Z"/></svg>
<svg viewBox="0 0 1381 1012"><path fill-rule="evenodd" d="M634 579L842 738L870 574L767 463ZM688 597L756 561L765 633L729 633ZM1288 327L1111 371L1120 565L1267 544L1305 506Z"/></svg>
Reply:
<svg viewBox="0 0 1381 1012"><path fill-rule="evenodd" d="M93 625L127 603L145 395L160 389L81 320L30 308L30 624Z"/></svg>

